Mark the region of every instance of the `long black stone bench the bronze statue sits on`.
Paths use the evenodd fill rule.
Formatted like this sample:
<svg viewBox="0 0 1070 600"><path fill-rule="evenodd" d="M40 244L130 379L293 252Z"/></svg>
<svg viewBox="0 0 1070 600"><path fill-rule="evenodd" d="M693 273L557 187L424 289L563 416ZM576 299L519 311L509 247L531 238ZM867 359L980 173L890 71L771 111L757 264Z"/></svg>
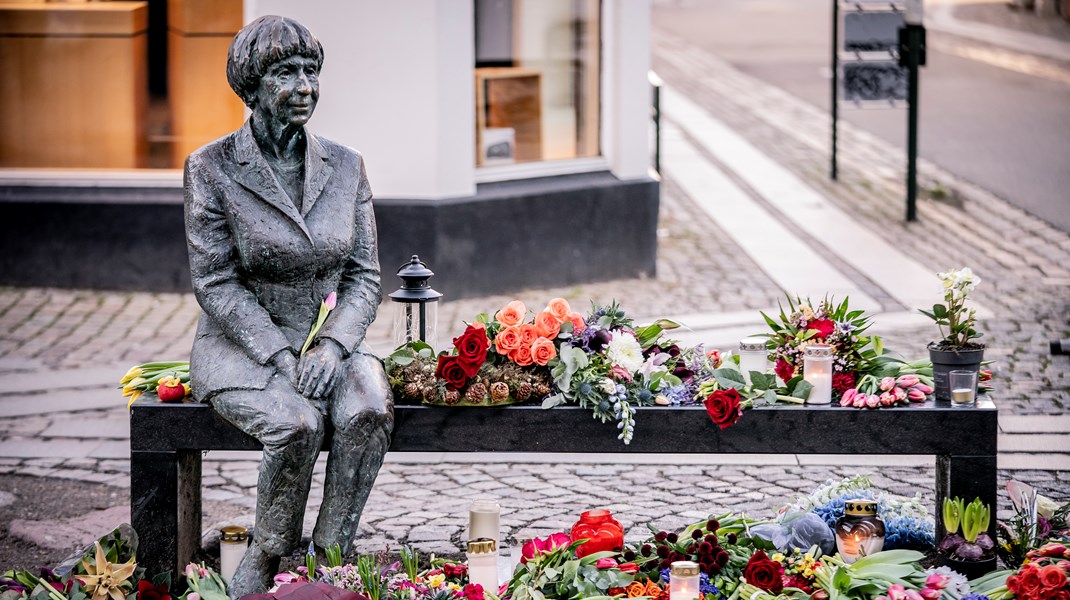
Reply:
<svg viewBox="0 0 1070 600"><path fill-rule="evenodd" d="M935 455L936 505L947 496L996 502L997 411L928 401L881 410L766 406L725 430L702 406L639 409L625 446L617 430L576 406L395 406L392 451L578 453ZM328 445L324 446L326 449ZM131 409L131 512L138 563L179 569L201 536L201 453L260 444L198 403L142 398ZM712 506L710 511L718 510Z"/></svg>

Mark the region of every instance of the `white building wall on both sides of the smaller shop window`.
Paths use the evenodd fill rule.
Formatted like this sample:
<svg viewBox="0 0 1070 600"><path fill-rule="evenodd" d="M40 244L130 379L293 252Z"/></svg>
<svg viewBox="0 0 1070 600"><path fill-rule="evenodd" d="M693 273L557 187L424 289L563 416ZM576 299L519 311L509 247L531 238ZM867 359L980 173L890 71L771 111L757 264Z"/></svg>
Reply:
<svg viewBox="0 0 1070 600"><path fill-rule="evenodd" d="M245 0L245 20L276 14L308 27L325 52L311 129L364 154L377 197L434 199L475 194L473 10L473 0ZM649 12L649 0L602 0L603 165L621 179L648 174ZM567 172L566 163L524 165L520 176Z"/></svg>

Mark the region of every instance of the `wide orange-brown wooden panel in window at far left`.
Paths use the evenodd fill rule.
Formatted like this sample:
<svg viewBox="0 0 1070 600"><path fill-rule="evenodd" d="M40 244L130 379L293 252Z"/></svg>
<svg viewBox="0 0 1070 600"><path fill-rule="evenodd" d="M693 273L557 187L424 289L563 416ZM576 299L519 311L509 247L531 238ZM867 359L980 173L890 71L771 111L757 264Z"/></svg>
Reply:
<svg viewBox="0 0 1070 600"><path fill-rule="evenodd" d="M0 167L146 156L147 2L0 3Z"/></svg>

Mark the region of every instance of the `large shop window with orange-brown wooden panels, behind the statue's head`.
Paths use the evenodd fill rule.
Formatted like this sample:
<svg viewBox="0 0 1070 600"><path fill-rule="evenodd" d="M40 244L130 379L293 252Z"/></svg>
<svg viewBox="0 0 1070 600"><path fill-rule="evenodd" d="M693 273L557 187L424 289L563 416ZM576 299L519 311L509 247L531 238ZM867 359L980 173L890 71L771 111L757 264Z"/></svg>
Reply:
<svg viewBox="0 0 1070 600"><path fill-rule="evenodd" d="M242 0L0 2L0 167L181 168L244 120L241 27Z"/></svg>

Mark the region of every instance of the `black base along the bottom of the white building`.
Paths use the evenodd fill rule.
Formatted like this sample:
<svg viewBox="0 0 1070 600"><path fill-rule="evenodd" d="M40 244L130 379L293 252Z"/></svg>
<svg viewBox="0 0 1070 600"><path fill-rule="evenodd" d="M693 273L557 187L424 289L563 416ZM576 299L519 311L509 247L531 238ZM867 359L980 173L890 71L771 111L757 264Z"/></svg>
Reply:
<svg viewBox="0 0 1070 600"><path fill-rule="evenodd" d="M608 172L376 199L383 289L417 253L446 298L653 276L659 183ZM177 188L0 188L0 284L188 292Z"/></svg>

